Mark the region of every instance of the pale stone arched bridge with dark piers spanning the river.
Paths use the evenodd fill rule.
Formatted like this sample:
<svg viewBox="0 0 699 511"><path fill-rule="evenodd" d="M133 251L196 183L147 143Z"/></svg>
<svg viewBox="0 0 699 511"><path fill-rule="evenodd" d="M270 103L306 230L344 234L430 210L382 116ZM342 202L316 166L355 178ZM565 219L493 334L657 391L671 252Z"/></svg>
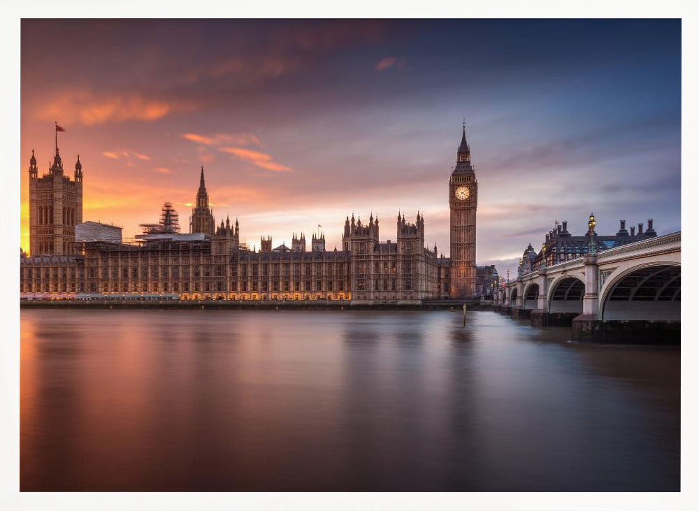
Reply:
<svg viewBox="0 0 699 511"><path fill-rule="evenodd" d="M584 254L519 275L495 305L573 340L679 343L682 232Z"/></svg>

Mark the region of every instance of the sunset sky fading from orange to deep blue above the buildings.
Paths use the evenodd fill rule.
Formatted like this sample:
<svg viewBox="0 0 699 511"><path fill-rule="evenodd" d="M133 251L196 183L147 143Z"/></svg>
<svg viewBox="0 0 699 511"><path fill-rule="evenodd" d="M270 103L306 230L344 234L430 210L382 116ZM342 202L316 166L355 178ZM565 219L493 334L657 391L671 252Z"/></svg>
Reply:
<svg viewBox="0 0 699 511"><path fill-rule="evenodd" d="M515 273L554 222L679 231L679 20L22 20L21 222L28 166L83 166L83 220L124 238L201 165L217 224L289 245L345 217L425 219L449 255L462 122L478 180L477 264ZM318 228L318 225L322 227Z"/></svg>

